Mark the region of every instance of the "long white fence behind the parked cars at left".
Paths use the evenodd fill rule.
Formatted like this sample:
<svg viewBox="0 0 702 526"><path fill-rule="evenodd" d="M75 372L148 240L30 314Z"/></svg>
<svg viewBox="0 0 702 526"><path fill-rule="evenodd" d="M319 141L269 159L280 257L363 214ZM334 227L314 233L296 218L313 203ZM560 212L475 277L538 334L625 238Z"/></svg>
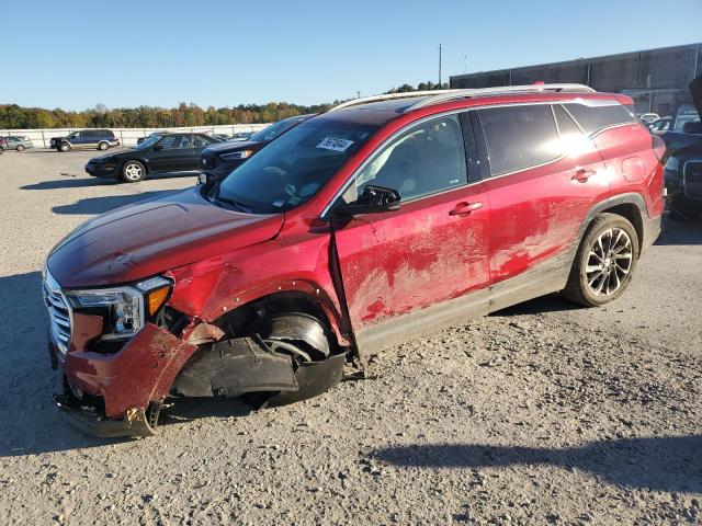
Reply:
<svg viewBox="0 0 702 526"><path fill-rule="evenodd" d="M194 132L204 134L238 134L241 132L258 132L269 124L228 124L222 126L194 126L185 128L109 128L122 146L134 146L139 137L145 137L154 132ZM52 137L65 137L68 134L83 128L52 128L52 129L0 129L0 136L19 135L29 137L36 148L48 148Z"/></svg>

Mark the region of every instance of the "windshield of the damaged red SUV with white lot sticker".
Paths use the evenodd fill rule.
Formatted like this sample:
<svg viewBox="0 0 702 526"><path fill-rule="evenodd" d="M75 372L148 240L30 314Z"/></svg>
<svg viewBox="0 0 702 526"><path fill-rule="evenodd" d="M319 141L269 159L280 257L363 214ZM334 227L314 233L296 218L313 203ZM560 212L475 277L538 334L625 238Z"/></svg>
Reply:
<svg viewBox="0 0 702 526"><path fill-rule="evenodd" d="M313 118L271 142L213 187L210 198L275 214L309 199L378 128Z"/></svg>

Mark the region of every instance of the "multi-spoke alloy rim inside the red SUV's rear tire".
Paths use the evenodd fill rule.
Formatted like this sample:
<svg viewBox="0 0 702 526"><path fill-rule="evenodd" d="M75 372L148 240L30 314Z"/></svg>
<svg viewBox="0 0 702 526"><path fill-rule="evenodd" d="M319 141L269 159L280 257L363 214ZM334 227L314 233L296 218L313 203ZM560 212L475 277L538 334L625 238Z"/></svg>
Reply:
<svg viewBox="0 0 702 526"><path fill-rule="evenodd" d="M595 240L586 267L588 288L595 296L611 296L632 268L632 240L621 228L610 228Z"/></svg>

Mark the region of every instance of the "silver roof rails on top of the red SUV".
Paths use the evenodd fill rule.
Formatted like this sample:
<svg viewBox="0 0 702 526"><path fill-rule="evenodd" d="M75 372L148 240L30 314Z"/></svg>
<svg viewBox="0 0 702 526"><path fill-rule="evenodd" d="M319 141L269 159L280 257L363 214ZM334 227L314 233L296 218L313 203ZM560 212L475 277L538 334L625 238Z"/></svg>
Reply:
<svg viewBox="0 0 702 526"><path fill-rule="evenodd" d="M478 89L455 89L455 90L431 90L431 91L403 91L398 93L385 93L383 95L363 96L361 99L351 99L327 110L335 112L349 106L359 104L367 104L370 102L388 101L393 99L409 99L414 96L426 96L421 101L411 104L407 111L417 110L419 107L439 104L440 102L453 101L455 99L464 99L468 96L492 95L500 93L540 93L543 91L556 91L568 93L592 93L596 90L585 84L526 84L526 85L498 85L494 88Z"/></svg>

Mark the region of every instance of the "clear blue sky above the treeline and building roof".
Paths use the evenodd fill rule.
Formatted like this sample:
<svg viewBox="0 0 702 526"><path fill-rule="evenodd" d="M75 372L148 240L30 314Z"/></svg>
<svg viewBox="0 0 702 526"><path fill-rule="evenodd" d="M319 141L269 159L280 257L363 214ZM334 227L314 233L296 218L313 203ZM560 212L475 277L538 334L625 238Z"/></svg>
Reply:
<svg viewBox="0 0 702 526"><path fill-rule="evenodd" d="M702 41L702 0L66 1L4 5L0 103L82 110L369 95ZM465 59L467 57L467 59Z"/></svg>

